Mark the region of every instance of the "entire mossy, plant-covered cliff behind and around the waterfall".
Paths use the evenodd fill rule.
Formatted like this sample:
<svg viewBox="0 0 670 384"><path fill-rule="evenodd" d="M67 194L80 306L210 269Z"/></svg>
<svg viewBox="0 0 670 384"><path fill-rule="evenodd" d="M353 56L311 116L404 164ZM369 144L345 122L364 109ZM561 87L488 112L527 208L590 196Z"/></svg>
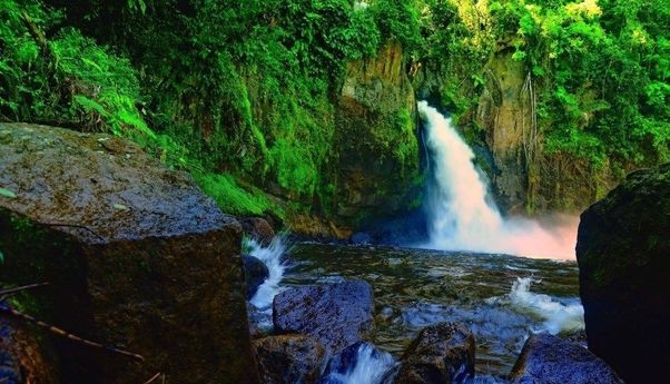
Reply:
<svg viewBox="0 0 670 384"><path fill-rule="evenodd" d="M234 215L346 237L421 203L416 98L501 206L670 159L660 1L2 0L0 120L129 138Z"/></svg>

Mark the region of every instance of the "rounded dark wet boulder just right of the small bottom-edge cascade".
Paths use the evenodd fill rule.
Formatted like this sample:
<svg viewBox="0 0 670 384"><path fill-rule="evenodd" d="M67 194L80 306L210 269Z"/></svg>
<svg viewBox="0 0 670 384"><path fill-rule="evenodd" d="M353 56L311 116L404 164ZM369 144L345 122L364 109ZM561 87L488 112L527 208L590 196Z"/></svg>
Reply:
<svg viewBox="0 0 670 384"><path fill-rule="evenodd" d="M459 323L421 331L403 354L394 384L451 384L474 377L475 341Z"/></svg>

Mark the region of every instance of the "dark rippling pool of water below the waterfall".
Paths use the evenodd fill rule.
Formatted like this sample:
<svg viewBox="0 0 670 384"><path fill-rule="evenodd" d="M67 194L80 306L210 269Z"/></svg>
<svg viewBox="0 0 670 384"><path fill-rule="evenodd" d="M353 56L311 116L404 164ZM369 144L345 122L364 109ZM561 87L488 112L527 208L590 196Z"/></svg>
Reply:
<svg viewBox="0 0 670 384"><path fill-rule="evenodd" d="M367 280L371 341L396 357L422 327L462 322L476 337L477 373L503 376L532 332L583 328L574 262L318 244L295 245L289 259L282 286Z"/></svg>

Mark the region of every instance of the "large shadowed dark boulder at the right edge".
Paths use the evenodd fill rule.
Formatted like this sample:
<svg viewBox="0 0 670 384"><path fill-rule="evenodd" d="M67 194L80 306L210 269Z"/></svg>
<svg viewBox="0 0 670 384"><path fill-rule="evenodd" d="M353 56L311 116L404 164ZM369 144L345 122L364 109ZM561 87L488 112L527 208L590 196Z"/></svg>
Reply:
<svg viewBox="0 0 670 384"><path fill-rule="evenodd" d="M670 376L670 164L640 170L581 216L589 349L628 383Z"/></svg>

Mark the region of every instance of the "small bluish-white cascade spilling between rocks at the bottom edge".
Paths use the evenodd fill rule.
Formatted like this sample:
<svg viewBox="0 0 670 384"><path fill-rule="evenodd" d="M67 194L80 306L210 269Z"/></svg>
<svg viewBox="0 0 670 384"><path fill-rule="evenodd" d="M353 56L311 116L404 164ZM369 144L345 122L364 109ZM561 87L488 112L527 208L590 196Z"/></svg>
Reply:
<svg viewBox="0 0 670 384"><path fill-rule="evenodd" d="M358 342L331 358L318 384L345 384L346 376L365 378L366 383L385 384L391 382L395 362L390 353L371 343ZM356 375L358 372L363 374Z"/></svg>

